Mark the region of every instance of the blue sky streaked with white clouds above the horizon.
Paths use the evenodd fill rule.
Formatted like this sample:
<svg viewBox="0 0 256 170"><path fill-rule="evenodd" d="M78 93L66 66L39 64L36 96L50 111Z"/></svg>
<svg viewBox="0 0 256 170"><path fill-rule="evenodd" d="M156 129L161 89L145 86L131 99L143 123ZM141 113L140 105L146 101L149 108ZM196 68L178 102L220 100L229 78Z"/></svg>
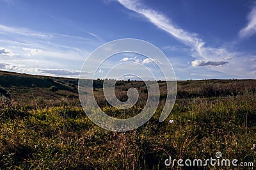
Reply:
<svg viewBox="0 0 256 170"><path fill-rule="evenodd" d="M256 78L252 0L0 0L0 16L0 70L77 78L100 45L136 38L164 52L177 80ZM127 61L156 67L124 53L97 76Z"/></svg>

